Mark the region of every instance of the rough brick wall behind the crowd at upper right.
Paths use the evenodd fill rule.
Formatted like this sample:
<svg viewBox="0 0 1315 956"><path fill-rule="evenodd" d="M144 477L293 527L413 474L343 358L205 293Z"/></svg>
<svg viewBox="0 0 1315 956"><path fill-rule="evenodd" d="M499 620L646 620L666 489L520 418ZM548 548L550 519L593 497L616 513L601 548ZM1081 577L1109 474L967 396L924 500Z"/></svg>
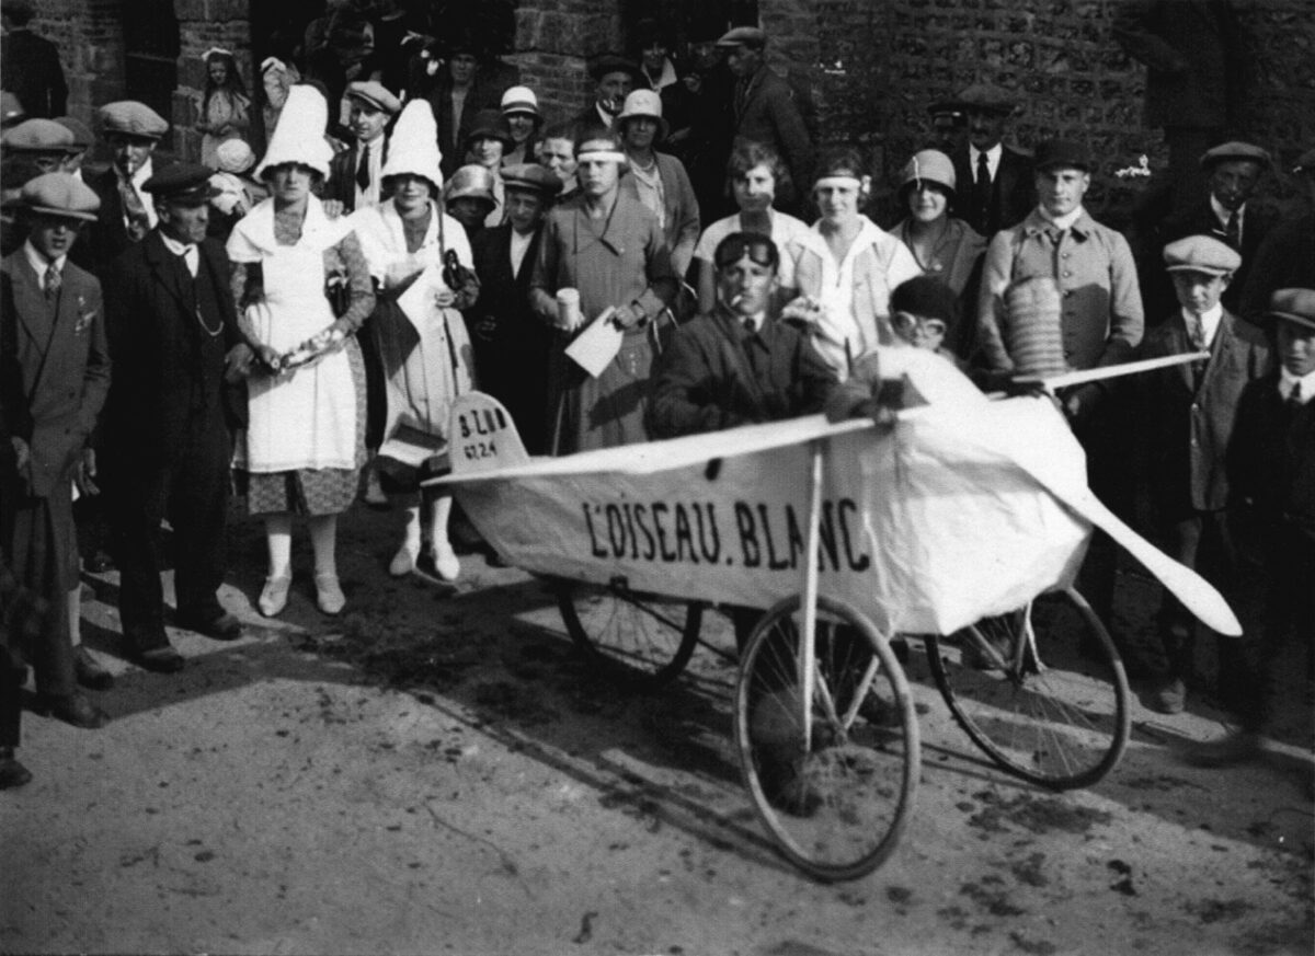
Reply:
<svg viewBox="0 0 1315 956"><path fill-rule="evenodd" d="M823 139L868 147L888 188L903 160L931 142L927 104L990 81L1024 102L1013 131L1018 144L1056 134L1088 143L1099 159L1090 205L1116 219L1145 180L1118 179L1114 171L1143 154L1152 169L1162 168L1165 148L1159 130L1141 126L1145 70L1112 41L1114 7L1112 0L760 0L777 62L811 77ZM1311 3L1237 7L1256 51L1252 109L1237 133L1273 150L1286 169L1315 143ZM1265 193L1286 205L1295 188L1281 175Z"/></svg>

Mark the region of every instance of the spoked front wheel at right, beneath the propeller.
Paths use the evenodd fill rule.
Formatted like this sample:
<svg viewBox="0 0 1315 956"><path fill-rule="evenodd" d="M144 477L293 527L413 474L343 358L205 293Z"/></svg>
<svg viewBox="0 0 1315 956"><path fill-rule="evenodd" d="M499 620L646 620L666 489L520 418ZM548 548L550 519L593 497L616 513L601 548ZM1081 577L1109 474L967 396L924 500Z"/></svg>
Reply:
<svg viewBox="0 0 1315 956"><path fill-rule="evenodd" d="M1056 791L1088 787L1128 743L1128 679L1105 625L1066 588L949 641L927 657L959 725L1010 773Z"/></svg>

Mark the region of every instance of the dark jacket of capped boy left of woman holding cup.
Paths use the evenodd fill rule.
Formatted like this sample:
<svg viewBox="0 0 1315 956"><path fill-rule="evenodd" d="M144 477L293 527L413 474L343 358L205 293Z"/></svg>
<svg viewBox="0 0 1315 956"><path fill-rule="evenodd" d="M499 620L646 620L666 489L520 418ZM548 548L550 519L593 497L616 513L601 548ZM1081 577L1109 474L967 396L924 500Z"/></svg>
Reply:
<svg viewBox="0 0 1315 956"><path fill-rule="evenodd" d="M480 298L468 310L476 381L512 412L530 454L547 453L548 355L552 330L530 309L530 278L540 227L521 268L512 273L512 225L485 228L471 243Z"/></svg>

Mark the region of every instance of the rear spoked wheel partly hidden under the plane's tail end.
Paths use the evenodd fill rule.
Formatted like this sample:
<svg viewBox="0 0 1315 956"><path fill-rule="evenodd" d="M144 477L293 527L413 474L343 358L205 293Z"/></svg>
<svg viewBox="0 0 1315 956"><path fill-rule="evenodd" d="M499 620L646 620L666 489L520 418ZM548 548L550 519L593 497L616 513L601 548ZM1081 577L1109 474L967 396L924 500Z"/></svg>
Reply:
<svg viewBox="0 0 1315 956"><path fill-rule="evenodd" d="M694 653L702 604L575 582L560 583L556 595L571 640L629 687L661 687Z"/></svg>

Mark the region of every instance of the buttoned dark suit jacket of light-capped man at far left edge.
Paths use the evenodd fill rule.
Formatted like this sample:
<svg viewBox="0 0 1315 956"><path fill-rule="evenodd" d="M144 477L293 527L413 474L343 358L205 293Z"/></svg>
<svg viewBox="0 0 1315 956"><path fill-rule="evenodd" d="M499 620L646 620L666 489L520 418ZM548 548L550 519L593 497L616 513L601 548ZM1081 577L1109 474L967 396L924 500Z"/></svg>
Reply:
<svg viewBox="0 0 1315 956"><path fill-rule="evenodd" d="M67 479L109 390L100 282L71 261L60 276L51 307L21 248L0 260L0 440L30 446L37 498Z"/></svg>

